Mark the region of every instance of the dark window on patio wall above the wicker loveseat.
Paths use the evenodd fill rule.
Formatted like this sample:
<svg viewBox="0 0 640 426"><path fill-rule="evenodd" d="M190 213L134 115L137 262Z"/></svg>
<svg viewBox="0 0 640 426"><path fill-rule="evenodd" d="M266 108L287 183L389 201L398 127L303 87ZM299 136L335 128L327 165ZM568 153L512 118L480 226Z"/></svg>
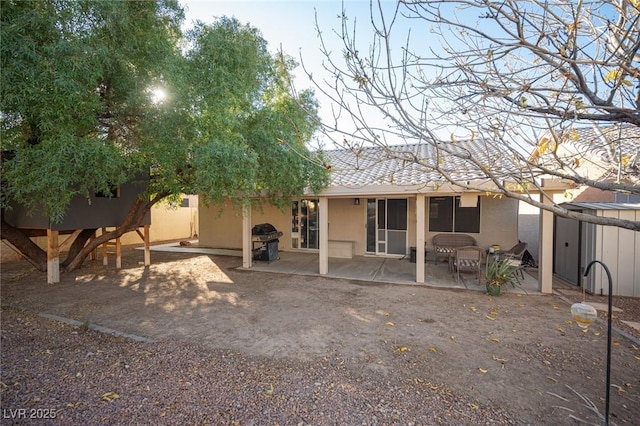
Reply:
<svg viewBox="0 0 640 426"><path fill-rule="evenodd" d="M429 231L480 232L480 199L475 207L460 207L460 197L429 198Z"/></svg>

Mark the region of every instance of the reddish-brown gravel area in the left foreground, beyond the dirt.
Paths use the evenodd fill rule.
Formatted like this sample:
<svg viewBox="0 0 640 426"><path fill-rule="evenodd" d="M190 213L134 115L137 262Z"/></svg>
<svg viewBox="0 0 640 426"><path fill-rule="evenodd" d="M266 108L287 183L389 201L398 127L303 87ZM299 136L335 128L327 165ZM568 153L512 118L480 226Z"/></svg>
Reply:
<svg viewBox="0 0 640 426"><path fill-rule="evenodd" d="M132 342L16 309L2 347L3 424L514 424L425 379Z"/></svg>

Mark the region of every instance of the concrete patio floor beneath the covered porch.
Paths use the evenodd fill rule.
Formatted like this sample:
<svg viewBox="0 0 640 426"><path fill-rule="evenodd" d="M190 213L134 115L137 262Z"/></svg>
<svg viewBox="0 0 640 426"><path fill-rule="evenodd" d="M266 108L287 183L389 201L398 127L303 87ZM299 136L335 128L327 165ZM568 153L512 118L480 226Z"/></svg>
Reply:
<svg viewBox="0 0 640 426"><path fill-rule="evenodd" d="M157 245L152 246L151 250L242 257L242 251L240 250L198 247L197 241L191 241L190 243L191 245L189 246L180 246L177 243ZM281 251L278 254L280 258L272 262L254 260L251 270L320 276L317 253ZM324 276L358 281L486 291L484 284L478 284L473 274L463 273L461 274L460 281L457 281L455 274L449 272L449 266L446 262L435 265L433 259L428 259L427 262L425 262L424 284L416 283L415 274L416 264L411 263L408 256L404 258L354 256L352 259L329 258L329 273ZM508 288L508 291L514 293L540 294L538 280L535 278L536 274L536 269L526 270L524 280L520 279L521 286Z"/></svg>

